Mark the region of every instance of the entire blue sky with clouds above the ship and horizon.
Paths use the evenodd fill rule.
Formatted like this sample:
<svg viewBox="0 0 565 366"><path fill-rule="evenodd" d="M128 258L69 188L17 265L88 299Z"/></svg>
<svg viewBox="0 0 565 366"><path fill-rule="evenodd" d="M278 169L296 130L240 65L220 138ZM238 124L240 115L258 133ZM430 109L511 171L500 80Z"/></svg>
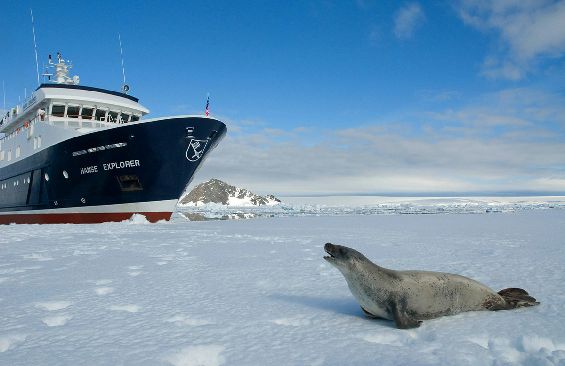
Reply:
<svg viewBox="0 0 565 366"><path fill-rule="evenodd" d="M195 184L565 194L565 1L2 0L8 107L37 87L30 8L40 69L119 90L119 34L151 117L210 94L228 135Z"/></svg>

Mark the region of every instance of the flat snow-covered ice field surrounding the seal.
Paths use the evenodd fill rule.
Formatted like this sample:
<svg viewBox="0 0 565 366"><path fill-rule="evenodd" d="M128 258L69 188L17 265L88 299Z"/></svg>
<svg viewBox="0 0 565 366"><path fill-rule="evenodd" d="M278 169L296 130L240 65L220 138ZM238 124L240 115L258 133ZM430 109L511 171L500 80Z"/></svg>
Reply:
<svg viewBox="0 0 565 366"><path fill-rule="evenodd" d="M2 226L0 365L565 364L564 201L454 201ZM541 305L399 330L363 316L322 259L328 241L393 269L522 287Z"/></svg>

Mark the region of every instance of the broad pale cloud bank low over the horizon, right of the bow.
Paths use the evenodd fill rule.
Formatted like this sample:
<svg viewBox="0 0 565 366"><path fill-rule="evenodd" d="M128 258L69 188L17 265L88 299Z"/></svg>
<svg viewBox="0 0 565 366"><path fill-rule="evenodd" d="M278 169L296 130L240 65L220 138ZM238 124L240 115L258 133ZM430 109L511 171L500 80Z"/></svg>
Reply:
<svg viewBox="0 0 565 366"><path fill-rule="evenodd" d="M259 193L565 192L565 98L530 89L341 130L238 126L197 173Z"/></svg>

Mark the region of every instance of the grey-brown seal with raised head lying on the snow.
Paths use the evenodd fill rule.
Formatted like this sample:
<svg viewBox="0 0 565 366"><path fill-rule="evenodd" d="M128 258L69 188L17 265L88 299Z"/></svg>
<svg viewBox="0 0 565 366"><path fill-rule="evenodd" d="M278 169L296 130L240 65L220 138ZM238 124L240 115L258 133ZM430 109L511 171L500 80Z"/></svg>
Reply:
<svg viewBox="0 0 565 366"><path fill-rule="evenodd" d="M538 305L520 288L494 292L470 278L442 272L394 271L379 267L355 249L327 243L324 259L345 277L363 312L394 320L401 329L423 320L477 310L508 310Z"/></svg>

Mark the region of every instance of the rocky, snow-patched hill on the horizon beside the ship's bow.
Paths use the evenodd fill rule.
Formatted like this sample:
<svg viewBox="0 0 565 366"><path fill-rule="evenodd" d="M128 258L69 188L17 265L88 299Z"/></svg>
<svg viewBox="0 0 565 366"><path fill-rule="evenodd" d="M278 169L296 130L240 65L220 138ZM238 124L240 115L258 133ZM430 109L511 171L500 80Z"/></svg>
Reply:
<svg viewBox="0 0 565 366"><path fill-rule="evenodd" d="M281 201L273 195L259 196L245 188L238 188L218 179L210 179L197 185L179 202L181 206L201 206L210 203L241 207L272 206Z"/></svg>

